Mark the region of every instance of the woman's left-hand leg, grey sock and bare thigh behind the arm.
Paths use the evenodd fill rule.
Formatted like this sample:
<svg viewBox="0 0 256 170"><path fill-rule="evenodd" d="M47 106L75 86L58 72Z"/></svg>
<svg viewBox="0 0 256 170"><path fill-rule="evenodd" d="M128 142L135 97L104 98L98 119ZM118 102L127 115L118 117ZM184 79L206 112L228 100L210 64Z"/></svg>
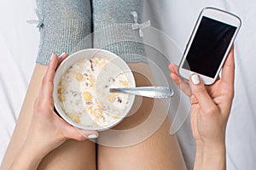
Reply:
<svg viewBox="0 0 256 170"><path fill-rule="evenodd" d="M9 169L24 139L32 117L33 104L38 96L51 54L73 53L90 48L90 0L37 0L40 27L38 59L26 99L20 110L15 132L3 158L2 168ZM48 156L38 169L96 169L96 144L90 141L69 140Z"/></svg>

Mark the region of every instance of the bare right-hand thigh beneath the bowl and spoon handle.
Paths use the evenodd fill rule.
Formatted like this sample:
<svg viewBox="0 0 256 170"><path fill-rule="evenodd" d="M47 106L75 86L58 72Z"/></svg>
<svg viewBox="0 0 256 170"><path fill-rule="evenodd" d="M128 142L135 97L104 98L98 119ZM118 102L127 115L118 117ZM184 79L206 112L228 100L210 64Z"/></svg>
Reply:
<svg viewBox="0 0 256 170"><path fill-rule="evenodd" d="M154 83L148 65L130 66L137 86ZM171 122L163 100L141 98L136 105L131 116L100 134L98 169L186 169L177 137L169 134Z"/></svg>

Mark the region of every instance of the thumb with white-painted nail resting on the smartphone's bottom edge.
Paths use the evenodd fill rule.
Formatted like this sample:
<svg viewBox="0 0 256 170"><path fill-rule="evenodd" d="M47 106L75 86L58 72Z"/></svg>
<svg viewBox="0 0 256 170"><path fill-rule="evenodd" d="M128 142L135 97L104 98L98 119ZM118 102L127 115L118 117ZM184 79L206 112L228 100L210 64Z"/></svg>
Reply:
<svg viewBox="0 0 256 170"><path fill-rule="evenodd" d="M196 74L192 75L189 79L189 85L192 90L192 94L195 95L195 98L201 107L201 110L203 112L212 111L216 105L212 101L210 95L207 93L207 89L201 80L201 77Z"/></svg>

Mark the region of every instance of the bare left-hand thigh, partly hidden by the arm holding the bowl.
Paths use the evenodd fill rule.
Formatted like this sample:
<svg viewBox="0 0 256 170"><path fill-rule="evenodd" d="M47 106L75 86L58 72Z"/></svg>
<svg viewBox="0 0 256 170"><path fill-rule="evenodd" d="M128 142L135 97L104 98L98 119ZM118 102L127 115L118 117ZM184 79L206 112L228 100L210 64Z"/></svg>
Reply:
<svg viewBox="0 0 256 170"><path fill-rule="evenodd" d="M3 158L2 169L9 169L12 160L24 139L32 117L33 103L38 96L40 84L47 69L45 65L36 65L32 80L26 92L26 99L20 110L15 131L10 140L8 150ZM53 150L40 163L38 169L96 169L96 144L90 141L78 142L68 140L59 148Z"/></svg>

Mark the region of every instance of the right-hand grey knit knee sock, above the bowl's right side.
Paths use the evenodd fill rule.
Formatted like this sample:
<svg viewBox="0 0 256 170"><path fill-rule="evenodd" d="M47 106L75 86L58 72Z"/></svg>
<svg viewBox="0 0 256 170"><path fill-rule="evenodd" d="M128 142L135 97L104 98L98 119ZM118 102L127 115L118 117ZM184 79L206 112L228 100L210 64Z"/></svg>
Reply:
<svg viewBox="0 0 256 170"><path fill-rule="evenodd" d="M134 17L142 22L143 0L93 0L93 47L107 49L126 62L146 61L143 39L133 30Z"/></svg>

